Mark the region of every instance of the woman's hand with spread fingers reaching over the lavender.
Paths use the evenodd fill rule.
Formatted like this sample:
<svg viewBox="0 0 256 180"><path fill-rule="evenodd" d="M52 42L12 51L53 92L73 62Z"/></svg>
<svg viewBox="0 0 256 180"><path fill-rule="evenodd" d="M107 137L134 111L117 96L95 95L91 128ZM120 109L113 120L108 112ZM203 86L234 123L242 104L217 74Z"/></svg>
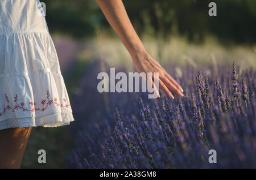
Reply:
<svg viewBox="0 0 256 180"><path fill-rule="evenodd" d="M174 96L170 92L174 92L177 96L183 97L183 89L180 85L172 78L166 70L157 62L155 59L150 57L147 52L139 52L132 55L133 64L139 73L141 72L154 72L159 73L159 88L170 98L174 99ZM154 82L154 76L148 81ZM155 89L156 90L156 89ZM157 91L157 90L156 90ZM159 92L156 92L159 95ZM159 96L160 97L160 96Z"/></svg>

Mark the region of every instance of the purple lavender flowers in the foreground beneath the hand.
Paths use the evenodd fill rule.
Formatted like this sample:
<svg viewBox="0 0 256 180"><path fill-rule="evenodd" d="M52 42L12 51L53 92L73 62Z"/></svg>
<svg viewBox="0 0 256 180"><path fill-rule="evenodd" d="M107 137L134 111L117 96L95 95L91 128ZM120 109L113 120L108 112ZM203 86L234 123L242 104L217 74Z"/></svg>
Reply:
<svg viewBox="0 0 256 180"><path fill-rule="evenodd" d="M256 168L256 72L235 63L217 69L182 66L176 79L185 96L175 100L148 100L145 93L99 95L88 77L81 80L69 166ZM216 164L208 162L209 149L217 152Z"/></svg>

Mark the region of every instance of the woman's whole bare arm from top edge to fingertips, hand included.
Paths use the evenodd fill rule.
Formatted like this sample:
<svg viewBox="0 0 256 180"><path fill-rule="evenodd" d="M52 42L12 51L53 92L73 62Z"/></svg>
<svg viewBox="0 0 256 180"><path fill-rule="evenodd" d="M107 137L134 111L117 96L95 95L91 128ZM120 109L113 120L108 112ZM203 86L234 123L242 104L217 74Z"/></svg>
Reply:
<svg viewBox="0 0 256 180"><path fill-rule="evenodd" d="M147 51L135 32L121 0L96 0L109 24L117 33L133 59L139 73L159 72L159 88L170 98L174 98L170 90L183 97L180 85L155 61Z"/></svg>

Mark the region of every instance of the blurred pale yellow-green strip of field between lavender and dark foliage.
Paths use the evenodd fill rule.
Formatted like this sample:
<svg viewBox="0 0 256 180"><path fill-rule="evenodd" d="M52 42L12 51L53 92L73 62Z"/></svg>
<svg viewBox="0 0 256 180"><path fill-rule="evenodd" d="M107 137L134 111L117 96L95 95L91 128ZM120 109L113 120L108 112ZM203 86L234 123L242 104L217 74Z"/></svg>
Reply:
<svg viewBox="0 0 256 180"><path fill-rule="evenodd" d="M217 38L205 37L196 44L185 37L170 36L166 39L142 35L142 42L150 55L161 65L185 65L194 67L205 65L231 65L236 62L242 68L256 67L256 45L222 45ZM108 36L108 32L97 31L96 38L89 42L82 54L89 59L101 59L110 66L124 65L133 68L131 58L122 42L116 36ZM95 52L95 53L93 53Z"/></svg>

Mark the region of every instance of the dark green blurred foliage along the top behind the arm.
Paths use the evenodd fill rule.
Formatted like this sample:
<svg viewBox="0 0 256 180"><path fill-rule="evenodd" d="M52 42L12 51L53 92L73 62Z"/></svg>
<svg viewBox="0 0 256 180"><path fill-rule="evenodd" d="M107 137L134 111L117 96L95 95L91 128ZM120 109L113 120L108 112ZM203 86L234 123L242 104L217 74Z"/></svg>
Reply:
<svg viewBox="0 0 256 180"><path fill-rule="evenodd" d="M44 0L51 32L92 37L96 28L110 29L96 1ZM194 42L215 36L222 42L256 41L256 1L216 0L217 16L208 15L206 0L123 0L139 35L182 35ZM113 32L112 32L113 33Z"/></svg>

